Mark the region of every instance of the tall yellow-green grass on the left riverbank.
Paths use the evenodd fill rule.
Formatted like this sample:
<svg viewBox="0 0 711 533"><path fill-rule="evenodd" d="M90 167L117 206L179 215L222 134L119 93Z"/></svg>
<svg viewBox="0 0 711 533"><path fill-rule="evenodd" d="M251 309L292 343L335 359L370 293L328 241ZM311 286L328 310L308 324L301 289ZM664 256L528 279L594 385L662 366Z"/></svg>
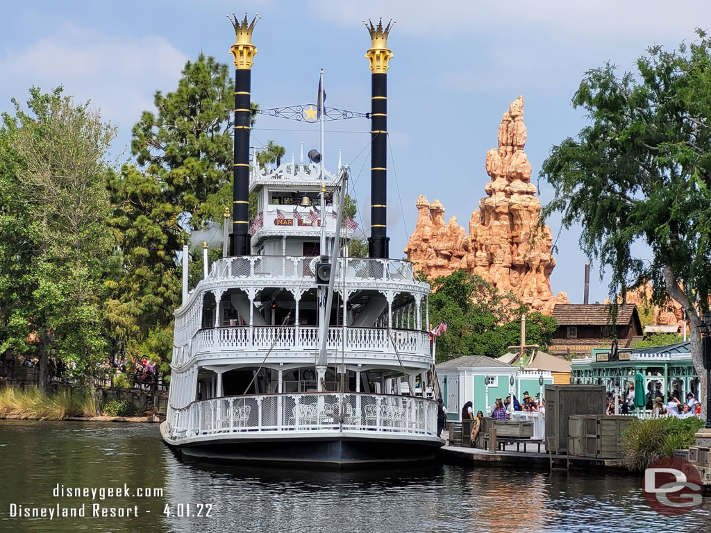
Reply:
<svg viewBox="0 0 711 533"><path fill-rule="evenodd" d="M48 396L39 389L0 389L0 418L64 420L68 416L94 416L97 400L68 390Z"/></svg>

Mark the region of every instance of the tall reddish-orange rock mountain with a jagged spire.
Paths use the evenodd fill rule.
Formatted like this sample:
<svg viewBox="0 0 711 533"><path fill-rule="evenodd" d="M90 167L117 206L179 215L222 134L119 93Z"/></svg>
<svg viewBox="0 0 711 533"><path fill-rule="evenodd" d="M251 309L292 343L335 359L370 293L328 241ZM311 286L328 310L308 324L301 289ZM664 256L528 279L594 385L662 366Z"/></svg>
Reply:
<svg viewBox="0 0 711 533"><path fill-rule="evenodd" d="M501 291L511 291L524 303L550 315L556 303L568 303L564 292L553 296L550 274L550 227L538 230L540 203L530 183L531 166L523 147L523 97L508 106L498 126L498 149L486 153L491 177L469 219L469 235L451 217L444 222L444 205L417 198L417 225L405 247L417 269L434 278L466 269ZM533 238L532 238L533 236Z"/></svg>

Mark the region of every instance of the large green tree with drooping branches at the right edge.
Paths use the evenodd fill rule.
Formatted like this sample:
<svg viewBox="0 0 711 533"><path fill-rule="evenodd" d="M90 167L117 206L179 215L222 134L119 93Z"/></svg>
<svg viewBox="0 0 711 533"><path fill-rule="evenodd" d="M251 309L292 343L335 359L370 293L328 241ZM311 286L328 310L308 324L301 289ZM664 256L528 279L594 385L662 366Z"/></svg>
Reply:
<svg viewBox="0 0 711 533"><path fill-rule="evenodd" d="M649 48L636 73L610 64L587 72L572 104L591 124L552 148L540 176L555 190L544 215L582 224L580 245L609 269L611 295L624 301L648 279L655 303L685 308L706 394L697 326L711 288L711 41L697 33L678 50Z"/></svg>

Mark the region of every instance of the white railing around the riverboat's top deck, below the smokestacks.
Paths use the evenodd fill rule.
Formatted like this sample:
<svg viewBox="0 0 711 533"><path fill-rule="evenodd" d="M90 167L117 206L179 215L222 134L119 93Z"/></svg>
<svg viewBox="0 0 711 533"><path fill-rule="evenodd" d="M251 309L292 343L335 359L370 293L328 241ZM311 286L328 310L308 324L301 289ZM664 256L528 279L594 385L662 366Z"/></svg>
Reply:
<svg viewBox="0 0 711 533"><path fill-rule="evenodd" d="M235 278L315 279L319 257L282 257L255 255L217 259L208 280ZM415 281L412 263L400 259L361 259L346 257L338 260L336 279L341 279L345 265L346 281Z"/></svg>

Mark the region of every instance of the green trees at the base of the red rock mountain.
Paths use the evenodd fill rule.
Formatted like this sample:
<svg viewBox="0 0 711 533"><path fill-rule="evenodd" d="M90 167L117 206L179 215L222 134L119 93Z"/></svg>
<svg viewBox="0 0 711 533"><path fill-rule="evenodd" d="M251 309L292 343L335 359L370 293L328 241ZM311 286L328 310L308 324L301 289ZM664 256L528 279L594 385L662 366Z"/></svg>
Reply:
<svg viewBox="0 0 711 533"><path fill-rule="evenodd" d="M521 315L528 311L513 294L501 294L488 281L464 270L432 281L429 319L447 322L437 338L437 362L459 355L500 357L520 344ZM542 350L550 345L555 319L541 313L526 315L526 341Z"/></svg>

